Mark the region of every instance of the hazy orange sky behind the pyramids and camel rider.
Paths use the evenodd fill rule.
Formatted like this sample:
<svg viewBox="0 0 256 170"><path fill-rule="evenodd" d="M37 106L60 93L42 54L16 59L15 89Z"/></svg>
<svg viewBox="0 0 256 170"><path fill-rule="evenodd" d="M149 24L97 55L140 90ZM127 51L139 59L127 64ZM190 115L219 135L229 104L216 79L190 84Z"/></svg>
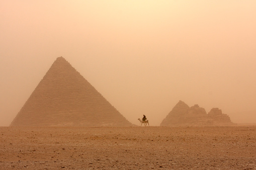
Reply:
<svg viewBox="0 0 256 170"><path fill-rule="evenodd" d="M256 123L256 1L0 0L0 126L57 57L130 122L179 102Z"/></svg>

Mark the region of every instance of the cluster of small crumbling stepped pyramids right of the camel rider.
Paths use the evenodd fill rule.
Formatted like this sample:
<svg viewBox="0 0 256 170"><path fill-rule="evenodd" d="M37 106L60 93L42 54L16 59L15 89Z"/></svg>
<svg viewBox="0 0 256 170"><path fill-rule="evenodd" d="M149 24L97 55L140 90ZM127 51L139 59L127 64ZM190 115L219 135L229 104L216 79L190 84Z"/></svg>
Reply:
<svg viewBox="0 0 256 170"><path fill-rule="evenodd" d="M162 120L160 126L228 126L235 125L229 116L218 108L212 108L207 114L205 109L195 104L189 107L179 101L172 111Z"/></svg>

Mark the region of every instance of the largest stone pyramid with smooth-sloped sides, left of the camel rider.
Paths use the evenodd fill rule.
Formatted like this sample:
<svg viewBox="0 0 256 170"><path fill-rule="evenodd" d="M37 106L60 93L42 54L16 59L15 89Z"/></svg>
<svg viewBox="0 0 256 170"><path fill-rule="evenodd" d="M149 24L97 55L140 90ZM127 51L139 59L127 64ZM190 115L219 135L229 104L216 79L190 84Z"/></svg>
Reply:
<svg viewBox="0 0 256 170"><path fill-rule="evenodd" d="M132 126L63 57L58 57L10 126Z"/></svg>

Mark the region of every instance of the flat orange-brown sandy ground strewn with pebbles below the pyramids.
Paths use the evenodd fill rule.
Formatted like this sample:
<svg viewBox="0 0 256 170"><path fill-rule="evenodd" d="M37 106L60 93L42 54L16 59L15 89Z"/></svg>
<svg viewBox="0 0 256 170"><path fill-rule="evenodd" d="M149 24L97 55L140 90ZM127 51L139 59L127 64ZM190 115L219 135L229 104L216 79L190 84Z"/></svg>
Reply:
<svg viewBox="0 0 256 170"><path fill-rule="evenodd" d="M0 169L256 169L256 126L0 127Z"/></svg>

